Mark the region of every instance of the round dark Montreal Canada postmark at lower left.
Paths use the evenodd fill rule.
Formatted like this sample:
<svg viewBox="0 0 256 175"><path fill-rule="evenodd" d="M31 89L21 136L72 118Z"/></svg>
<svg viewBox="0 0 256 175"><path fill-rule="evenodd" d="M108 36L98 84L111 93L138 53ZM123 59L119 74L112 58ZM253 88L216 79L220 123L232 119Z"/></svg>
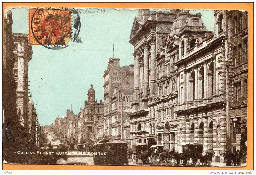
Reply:
<svg viewBox="0 0 256 175"><path fill-rule="evenodd" d="M35 117L24 117L19 120L13 117L7 124L5 137L15 148L25 150L35 147L41 136L41 126Z"/></svg>

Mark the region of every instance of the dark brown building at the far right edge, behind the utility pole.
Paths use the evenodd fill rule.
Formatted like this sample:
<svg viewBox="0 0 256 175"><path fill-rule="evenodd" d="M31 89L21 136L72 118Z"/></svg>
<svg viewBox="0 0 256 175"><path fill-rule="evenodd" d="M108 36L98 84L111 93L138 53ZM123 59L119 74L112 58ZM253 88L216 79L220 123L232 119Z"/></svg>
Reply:
<svg viewBox="0 0 256 175"><path fill-rule="evenodd" d="M243 151L246 159L247 141L247 99L248 99L248 13L230 11L227 13L231 40L233 84L231 89L231 143L232 148Z"/></svg>

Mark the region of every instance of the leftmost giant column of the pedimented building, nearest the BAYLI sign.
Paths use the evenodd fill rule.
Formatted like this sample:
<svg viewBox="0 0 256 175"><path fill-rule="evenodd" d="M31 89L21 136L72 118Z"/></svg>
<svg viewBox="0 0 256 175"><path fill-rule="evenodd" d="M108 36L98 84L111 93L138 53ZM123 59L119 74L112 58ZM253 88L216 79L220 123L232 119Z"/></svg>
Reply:
<svg viewBox="0 0 256 175"><path fill-rule="evenodd" d="M139 53L138 51L135 49L134 53L134 90L133 90L133 96L134 96L134 101L137 102L138 101L138 91L139 91L139 83L140 83L140 63L139 63Z"/></svg>

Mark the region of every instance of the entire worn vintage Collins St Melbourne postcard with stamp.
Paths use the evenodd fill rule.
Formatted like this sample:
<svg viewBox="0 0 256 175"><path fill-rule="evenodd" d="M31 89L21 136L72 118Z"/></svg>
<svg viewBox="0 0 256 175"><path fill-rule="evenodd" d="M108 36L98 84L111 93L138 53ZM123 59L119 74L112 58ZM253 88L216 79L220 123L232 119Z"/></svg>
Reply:
<svg viewBox="0 0 256 175"><path fill-rule="evenodd" d="M3 163L247 165L246 10L59 5L4 9Z"/></svg>

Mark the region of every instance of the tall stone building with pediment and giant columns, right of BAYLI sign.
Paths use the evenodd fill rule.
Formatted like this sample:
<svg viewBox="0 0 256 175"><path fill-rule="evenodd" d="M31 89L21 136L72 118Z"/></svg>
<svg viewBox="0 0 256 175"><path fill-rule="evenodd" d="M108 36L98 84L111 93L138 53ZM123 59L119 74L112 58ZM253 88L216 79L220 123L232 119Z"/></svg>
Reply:
<svg viewBox="0 0 256 175"><path fill-rule="evenodd" d="M169 13L138 9L130 43L134 46L134 103L130 116L131 145L140 142L156 144L158 86L156 85L156 53L180 10Z"/></svg>

